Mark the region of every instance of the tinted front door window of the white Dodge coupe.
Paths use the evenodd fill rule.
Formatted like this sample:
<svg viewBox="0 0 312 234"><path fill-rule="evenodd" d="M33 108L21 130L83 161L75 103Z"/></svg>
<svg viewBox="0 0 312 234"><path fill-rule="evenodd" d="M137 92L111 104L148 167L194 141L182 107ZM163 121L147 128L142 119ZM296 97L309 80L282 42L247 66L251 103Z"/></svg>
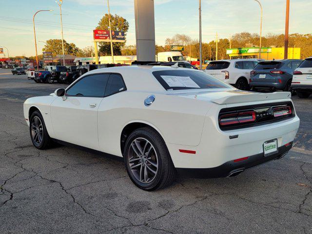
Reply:
<svg viewBox="0 0 312 234"><path fill-rule="evenodd" d="M103 98L109 74L86 76L66 91L66 96Z"/></svg>

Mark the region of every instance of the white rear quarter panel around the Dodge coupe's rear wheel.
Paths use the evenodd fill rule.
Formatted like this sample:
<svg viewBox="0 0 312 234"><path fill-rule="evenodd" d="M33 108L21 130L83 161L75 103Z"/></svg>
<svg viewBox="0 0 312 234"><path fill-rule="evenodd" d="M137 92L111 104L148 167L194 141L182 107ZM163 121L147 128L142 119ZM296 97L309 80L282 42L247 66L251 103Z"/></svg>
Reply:
<svg viewBox="0 0 312 234"><path fill-rule="evenodd" d="M145 98L152 94L155 101L145 106ZM122 156L121 132L132 122L153 126L167 144L196 146L210 106L209 102L195 98L128 90L103 98L98 109L100 150Z"/></svg>

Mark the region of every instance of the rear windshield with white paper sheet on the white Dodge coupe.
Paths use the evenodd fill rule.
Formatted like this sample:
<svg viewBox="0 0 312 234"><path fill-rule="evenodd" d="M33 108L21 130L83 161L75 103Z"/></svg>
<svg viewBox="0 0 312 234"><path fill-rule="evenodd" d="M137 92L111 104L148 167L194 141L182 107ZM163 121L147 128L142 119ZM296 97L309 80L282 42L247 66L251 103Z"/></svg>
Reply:
<svg viewBox="0 0 312 234"><path fill-rule="evenodd" d="M153 72L158 82L166 90L181 89L220 89L232 86L196 70L164 70Z"/></svg>

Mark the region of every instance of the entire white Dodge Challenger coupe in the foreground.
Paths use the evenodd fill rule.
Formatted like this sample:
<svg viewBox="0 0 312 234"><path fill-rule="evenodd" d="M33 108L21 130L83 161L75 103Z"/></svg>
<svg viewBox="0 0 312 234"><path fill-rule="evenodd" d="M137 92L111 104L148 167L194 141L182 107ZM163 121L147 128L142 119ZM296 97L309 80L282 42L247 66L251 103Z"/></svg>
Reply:
<svg viewBox="0 0 312 234"><path fill-rule="evenodd" d="M234 176L279 159L299 128L291 94L240 91L177 66L90 71L65 89L24 102L30 137L123 159L144 190L188 177Z"/></svg>

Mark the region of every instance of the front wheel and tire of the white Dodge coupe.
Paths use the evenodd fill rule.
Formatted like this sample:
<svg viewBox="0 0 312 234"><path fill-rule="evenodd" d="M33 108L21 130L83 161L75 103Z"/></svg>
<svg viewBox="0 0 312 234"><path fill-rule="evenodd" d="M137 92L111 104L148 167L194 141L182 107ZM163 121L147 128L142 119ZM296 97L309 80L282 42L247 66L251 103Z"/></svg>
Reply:
<svg viewBox="0 0 312 234"><path fill-rule="evenodd" d="M29 133L33 145L39 150L47 149L52 144L39 111L34 111L29 118Z"/></svg>

